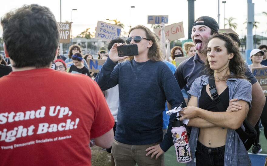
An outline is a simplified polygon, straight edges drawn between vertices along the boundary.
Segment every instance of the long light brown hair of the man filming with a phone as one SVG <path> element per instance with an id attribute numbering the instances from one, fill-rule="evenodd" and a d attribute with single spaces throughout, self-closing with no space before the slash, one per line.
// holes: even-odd
<path id="1" fill-rule="evenodd" d="M 144 25 L 137 25 L 134 28 L 131 28 L 129 30 L 129 34 L 134 29 L 143 29 L 146 32 L 146 38 L 149 39 L 150 41 L 152 41 L 152 43 L 153 43 L 152 46 L 148 50 L 148 58 L 152 61 L 163 61 L 163 55 L 162 55 L 161 50 L 160 50 L 160 44 L 157 41 L 157 38 L 154 35 L 154 33 L 152 31 L 150 31 L 150 29 L 145 27 Z M 128 35 L 128 37 L 129 37 L 129 35 Z M 133 60 L 133 59 L 134 59 L 134 56 L 130 56 L 127 58 L 127 60 Z"/>

